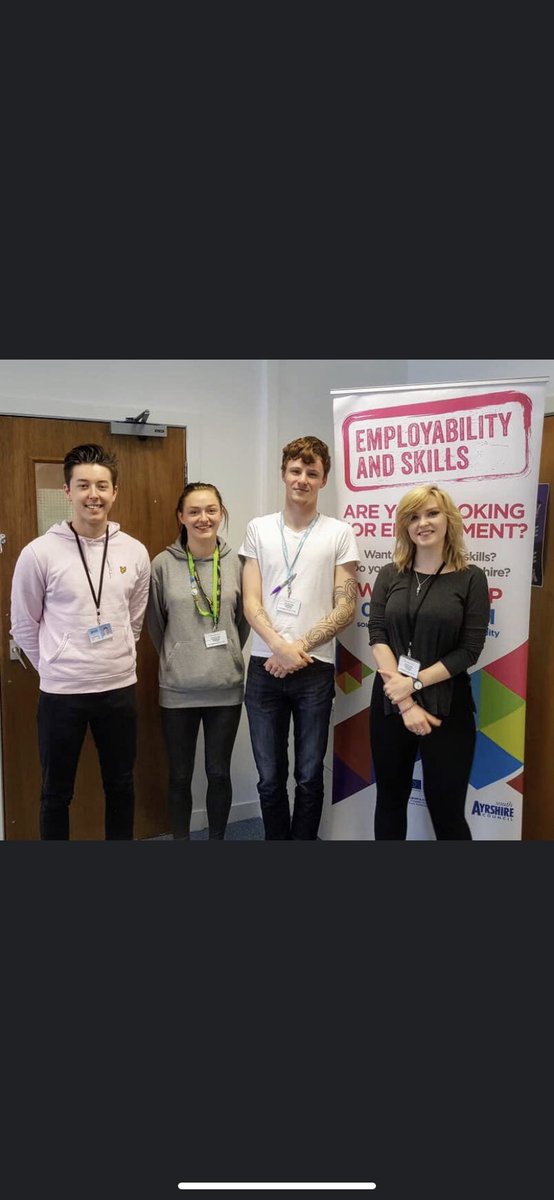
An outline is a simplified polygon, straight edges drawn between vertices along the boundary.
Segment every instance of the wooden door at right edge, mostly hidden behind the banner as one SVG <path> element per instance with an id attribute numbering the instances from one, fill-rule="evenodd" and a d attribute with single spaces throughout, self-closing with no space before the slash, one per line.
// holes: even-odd
<path id="1" fill-rule="evenodd" d="M 554 840 L 554 415 L 544 418 L 538 482 L 550 485 L 543 583 L 531 588 L 523 828 L 525 840 Z"/>

